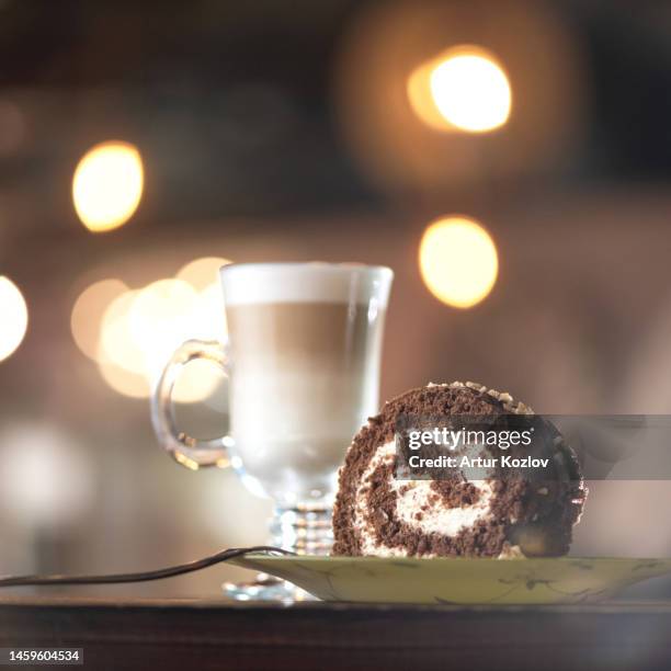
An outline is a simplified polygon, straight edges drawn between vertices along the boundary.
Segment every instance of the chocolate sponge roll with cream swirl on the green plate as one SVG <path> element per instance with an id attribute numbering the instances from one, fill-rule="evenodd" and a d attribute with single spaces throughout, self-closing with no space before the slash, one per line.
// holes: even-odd
<path id="1" fill-rule="evenodd" d="M 476 383 L 429 385 L 388 401 L 354 436 L 340 469 L 333 555 L 503 558 L 566 554 L 587 489 L 575 453 L 558 433 L 554 434 L 558 440 L 549 442 L 551 479 L 499 474 L 486 481 L 486 490 L 458 477 L 419 487 L 414 481 L 394 479 L 396 457 L 389 445 L 401 416 L 489 416 L 496 422 L 532 413 L 510 394 Z M 417 498 L 408 499 L 414 494 Z M 412 504 L 410 516 L 399 514 L 401 499 Z M 456 530 L 441 526 L 445 520 L 441 515 L 448 511 L 463 515 Z"/>

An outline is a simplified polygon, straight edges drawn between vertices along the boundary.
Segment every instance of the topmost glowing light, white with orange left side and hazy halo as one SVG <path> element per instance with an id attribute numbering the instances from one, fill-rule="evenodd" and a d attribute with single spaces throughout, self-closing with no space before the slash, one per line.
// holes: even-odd
<path id="1" fill-rule="evenodd" d="M 455 47 L 417 68 L 408 79 L 408 98 L 416 114 L 440 130 L 494 130 L 512 109 L 503 67 L 474 46 Z"/>

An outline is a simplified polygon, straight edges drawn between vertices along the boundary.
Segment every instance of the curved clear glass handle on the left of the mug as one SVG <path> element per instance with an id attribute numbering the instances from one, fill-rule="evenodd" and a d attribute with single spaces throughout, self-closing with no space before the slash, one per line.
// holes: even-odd
<path id="1" fill-rule="evenodd" d="M 219 365 L 228 375 L 228 357 L 217 341 L 187 340 L 181 344 L 159 377 L 151 397 L 151 421 L 159 443 L 182 466 L 192 470 L 205 466 L 226 468 L 229 465 L 227 446 L 232 439 L 198 440 L 186 435 L 177 428 L 172 389 L 182 368 L 195 359 L 205 359 Z"/>

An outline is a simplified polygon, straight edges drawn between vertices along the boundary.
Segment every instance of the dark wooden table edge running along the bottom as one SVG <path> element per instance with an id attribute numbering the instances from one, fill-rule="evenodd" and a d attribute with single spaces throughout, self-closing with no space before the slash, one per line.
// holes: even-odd
<path id="1" fill-rule="evenodd" d="M 0 599 L 0 647 L 54 646 L 83 648 L 83 668 L 96 671 L 641 671 L 671 669 L 671 603 L 493 609 Z"/>

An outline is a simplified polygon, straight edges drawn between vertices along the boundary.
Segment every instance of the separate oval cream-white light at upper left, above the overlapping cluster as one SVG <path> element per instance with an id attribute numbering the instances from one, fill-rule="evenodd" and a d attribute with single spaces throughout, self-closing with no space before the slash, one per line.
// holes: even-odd
<path id="1" fill-rule="evenodd" d="M 82 224 L 94 232 L 125 224 L 139 205 L 143 160 L 133 145 L 109 141 L 90 149 L 72 179 L 72 200 Z"/>

